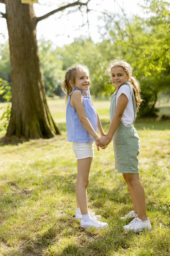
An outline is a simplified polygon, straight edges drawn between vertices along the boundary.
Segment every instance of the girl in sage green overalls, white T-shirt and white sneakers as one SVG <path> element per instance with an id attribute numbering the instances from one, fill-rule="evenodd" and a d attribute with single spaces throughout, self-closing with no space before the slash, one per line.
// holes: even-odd
<path id="1" fill-rule="evenodd" d="M 146 215 L 144 188 L 139 177 L 140 139 L 133 126 L 142 99 L 139 82 L 131 76 L 130 64 L 122 60 L 113 60 L 110 63 L 110 71 L 111 81 L 116 87 L 115 93 L 111 96 L 111 126 L 106 137 L 98 138 L 98 145 L 105 147 L 113 137 L 115 169 L 123 174 L 134 207 L 133 211 L 122 217 L 134 217 L 124 229 L 138 232 L 151 228 Z"/>

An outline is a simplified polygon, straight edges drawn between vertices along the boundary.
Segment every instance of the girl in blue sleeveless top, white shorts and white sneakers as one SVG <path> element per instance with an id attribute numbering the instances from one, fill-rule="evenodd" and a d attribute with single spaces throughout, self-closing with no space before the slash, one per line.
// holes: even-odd
<path id="1" fill-rule="evenodd" d="M 107 223 L 97 220 L 99 215 L 88 212 L 87 187 L 89 172 L 94 157 L 94 142 L 100 136 L 105 136 L 99 115 L 91 100 L 90 78 L 88 67 L 77 65 L 68 68 L 62 90 L 66 93 L 66 125 L 67 139 L 73 143 L 73 150 L 77 157 L 76 219 L 81 219 L 81 227 L 96 227 L 98 229 L 108 226 Z M 104 147 L 105 148 L 105 147 Z M 99 151 L 99 147 L 97 146 Z"/>

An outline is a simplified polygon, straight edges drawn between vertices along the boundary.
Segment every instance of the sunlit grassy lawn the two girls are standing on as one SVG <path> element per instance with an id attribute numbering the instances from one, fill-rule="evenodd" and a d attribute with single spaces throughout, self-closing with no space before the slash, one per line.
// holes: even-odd
<path id="1" fill-rule="evenodd" d="M 66 139 L 65 101 L 49 100 L 61 136 L 5 145 L 0 142 L 0 256 L 169 256 L 170 121 L 138 119 L 140 175 L 153 229 L 125 233 L 120 217 L 132 209 L 115 171 L 112 143 L 97 152 L 88 187 L 89 209 L 108 229 L 82 231 L 75 221 L 77 163 Z M 109 101 L 94 101 L 105 132 Z M 168 106 L 167 106 L 168 107 Z M 3 134 L 1 134 L 1 137 Z"/>

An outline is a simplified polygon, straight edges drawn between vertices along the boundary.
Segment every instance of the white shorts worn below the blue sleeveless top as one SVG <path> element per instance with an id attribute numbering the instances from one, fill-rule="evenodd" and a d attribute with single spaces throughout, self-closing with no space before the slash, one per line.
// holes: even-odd
<path id="1" fill-rule="evenodd" d="M 73 142 L 73 150 L 78 159 L 84 159 L 87 157 L 94 157 L 94 142 L 82 143 Z"/>

